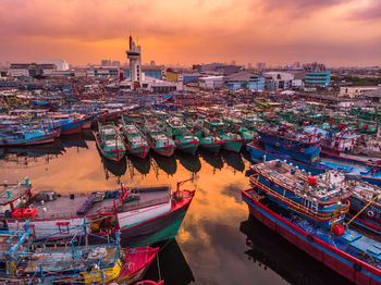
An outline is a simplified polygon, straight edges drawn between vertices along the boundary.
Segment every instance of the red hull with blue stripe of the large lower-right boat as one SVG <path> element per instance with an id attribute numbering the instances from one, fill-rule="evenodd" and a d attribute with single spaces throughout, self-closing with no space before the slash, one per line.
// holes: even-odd
<path id="1" fill-rule="evenodd" d="M 351 257 L 321 239 L 311 237 L 300 227 L 247 195 L 245 190 L 243 191 L 243 200 L 248 205 L 249 213 L 257 220 L 344 277 L 356 284 L 381 284 L 380 270 Z"/>

